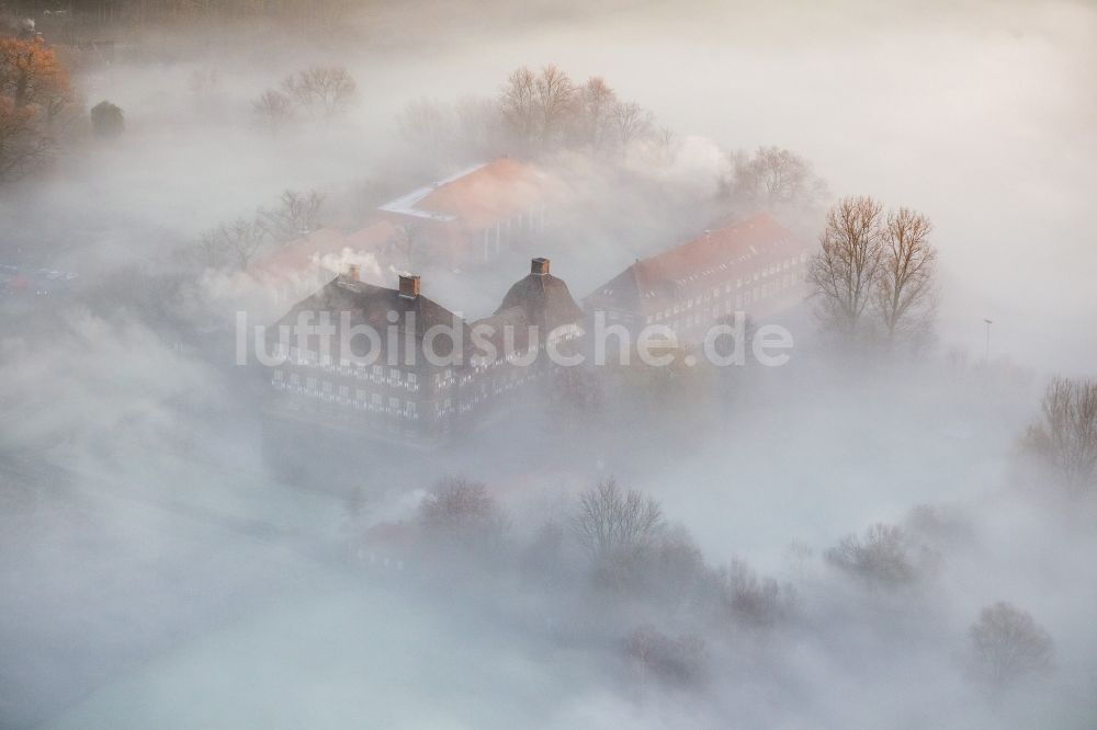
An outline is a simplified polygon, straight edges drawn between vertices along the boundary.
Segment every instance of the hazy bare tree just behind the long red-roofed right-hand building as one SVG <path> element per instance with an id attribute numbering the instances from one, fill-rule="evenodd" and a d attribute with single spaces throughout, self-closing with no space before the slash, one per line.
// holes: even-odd
<path id="1" fill-rule="evenodd" d="M 724 185 L 734 196 L 767 207 L 806 206 L 826 195 L 826 183 L 811 163 L 780 147 L 759 147 L 753 156 L 732 153 L 732 179 Z"/>

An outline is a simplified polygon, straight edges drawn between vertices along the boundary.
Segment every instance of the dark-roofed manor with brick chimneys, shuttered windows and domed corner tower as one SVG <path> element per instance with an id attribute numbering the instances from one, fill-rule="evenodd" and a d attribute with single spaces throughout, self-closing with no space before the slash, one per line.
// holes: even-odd
<path id="1" fill-rule="evenodd" d="M 303 334 L 302 323 L 331 329 Z M 474 322 L 425 296 L 419 276 L 387 288 L 352 266 L 270 330 L 268 350 L 282 362 L 270 372 L 267 415 L 434 445 L 489 422 L 509 393 L 551 370 L 546 349 L 574 349 L 581 334 L 583 311 L 547 259 Z"/>

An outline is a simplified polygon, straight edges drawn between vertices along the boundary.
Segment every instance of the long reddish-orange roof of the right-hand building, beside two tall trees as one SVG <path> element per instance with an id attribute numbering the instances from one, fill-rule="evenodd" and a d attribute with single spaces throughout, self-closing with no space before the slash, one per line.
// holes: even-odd
<path id="1" fill-rule="evenodd" d="M 766 213 L 706 231 L 648 259 L 637 260 L 587 297 L 593 307 L 653 311 L 714 282 L 753 272 L 805 250 Z"/>

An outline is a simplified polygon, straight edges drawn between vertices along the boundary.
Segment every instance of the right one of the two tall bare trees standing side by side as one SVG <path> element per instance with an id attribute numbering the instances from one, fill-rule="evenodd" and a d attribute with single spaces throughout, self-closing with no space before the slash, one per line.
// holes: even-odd
<path id="1" fill-rule="evenodd" d="M 937 249 L 929 218 L 909 208 L 887 214 L 872 305 L 889 343 L 928 333 L 937 312 Z"/>

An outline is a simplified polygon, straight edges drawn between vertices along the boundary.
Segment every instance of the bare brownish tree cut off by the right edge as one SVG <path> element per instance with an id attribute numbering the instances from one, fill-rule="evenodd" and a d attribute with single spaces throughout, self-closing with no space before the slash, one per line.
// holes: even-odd
<path id="1" fill-rule="evenodd" d="M 1025 446 L 1074 490 L 1097 489 L 1097 380 L 1055 378 Z"/>

